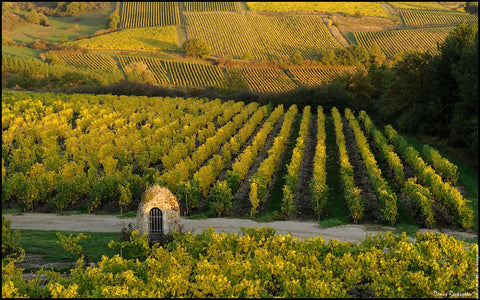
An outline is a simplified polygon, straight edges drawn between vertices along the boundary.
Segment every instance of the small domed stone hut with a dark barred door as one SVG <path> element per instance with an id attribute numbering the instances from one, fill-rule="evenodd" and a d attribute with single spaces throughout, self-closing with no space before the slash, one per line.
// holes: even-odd
<path id="1" fill-rule="evenodd" d="M 138 233 L 150 241 L 180 230 L 180 208 L 169 189 L 153 185 L 143 193 L 137 210 Z"/>

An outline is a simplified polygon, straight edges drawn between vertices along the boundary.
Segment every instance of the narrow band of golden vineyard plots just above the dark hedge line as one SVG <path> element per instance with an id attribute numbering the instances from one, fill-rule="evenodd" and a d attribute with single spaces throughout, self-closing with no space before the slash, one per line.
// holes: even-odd
<path id="1" fill-rule="evenodd" d="M 96 70 L 115 70 L 117 58 L 121 70 L 134 62 L 143 62 L 155 78 L 157 84 L 175 86 L 207 87 L 223 86 L 224 72 L 216 65 L 176 60 L 162 60 L 153 57 L 130 55 L 108 56 L 93 54 L 59 55 L 61 60 L 68 64 L 88 67 Z M 324 67 L 324 68 L 253 68 L 253 67 L 226 67 L 239 70 L 250 90 L 259 93 L 280 93 L 298 87 L 295 80 L 308 87 L 318 86 L 331 79 L 347 73 L 354 73 L 354 67 Z M 287 73 L 286 73 L 287 72 Z M 291 74 L 288 74 L 288 72 Z"/>

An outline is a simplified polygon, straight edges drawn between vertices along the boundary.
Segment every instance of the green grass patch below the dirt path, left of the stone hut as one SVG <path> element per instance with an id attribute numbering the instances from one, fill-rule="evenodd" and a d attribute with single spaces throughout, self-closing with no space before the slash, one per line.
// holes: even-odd
<path id="1" fill-rule="evenodd" d="M 19 230 L 20 244 L 25 250 L 25 253 L 44 255 L 43 259 L 46 262 L 56 261 L 75 261 L 78 257 L 71 254 L 57 243 L 57 231 L 44 230 Z M 65 236 L 73 234 L 76 236 L 80 232 L 58 231 Z M 98 262 L 102 255 L 112 257 L 118 254 L 115 250 L 108 248 L 108 243 L 111 240 L 120 241 L 120 233 L 114 232 L 86 232 L 85 235 L 91 238 L 81 240 L 78 244 L 82 247 L 82 251 L 87 254 L 90 262 Z"/>

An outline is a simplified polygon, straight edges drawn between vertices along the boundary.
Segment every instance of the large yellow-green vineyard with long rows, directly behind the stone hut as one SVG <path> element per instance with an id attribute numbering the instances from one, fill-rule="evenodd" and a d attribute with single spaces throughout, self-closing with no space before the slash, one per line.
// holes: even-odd
<path id="1" fill-rule="evenodd" d="M 29 211 L 128 209 L 154 182 L 177 194 L 184 214 L 211 206 L 216 215 L 229 215 L 241 206 L 232 213 L 255 216 L 266 202 L 280 201 L 288 216 L 297 184 L 311 185 L 317 217 L 333 201 L 322 177 L 325 122 L 332 119 L 325 120 L 321 107 L 313 175 L 299 178 L 314 117 L 309 106 L 298 114 L 295 105 L 268 111 L 254 102 L 202 99 L 7 92 L 2 99 L 3 203 Z M 383 133 L 376 129 L 364 111 L 360 122 L 350 109 L 344 119 L 336 108 L 331 113 L 339 173 L 326 176 L 340 174 L 353 222 L 393 225 L 399 207 L 406 206 L 417 224 L 474 225 L 474 211 L 455 186 L 456 166 L 438 151 L 425 147 L 422 159 L 391 126 Z M 301 121 L 293 154 L 282 161 L 296 118 Z M 269 199 L 282 164 L 283 199 Z M 185 202 L 195 190 L 197 197 Z M 216 202 L 218 190 L 230 200 Z"/>

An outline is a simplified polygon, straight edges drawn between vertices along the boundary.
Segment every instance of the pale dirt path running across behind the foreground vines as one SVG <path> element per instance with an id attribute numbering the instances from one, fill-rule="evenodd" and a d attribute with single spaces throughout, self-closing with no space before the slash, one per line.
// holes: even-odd
<path id="1" fill-rule="evenodd" d="M 112 215 L 70 215 L 60 216 L 45 213 L 2 214 L 12 220 L 12 229 L 36 229 L 36 230 L 62 230 L 80 232 L 120 232 L 124 225 L 135 223 L 135 218 L 120 219 Z M 314 221 L 275 221 L 256 222 L 248 219 L 211 218 L 190 220 L 181 218 L 181 226 L 184 232 L 202 233 L 204 229 L 213 227 L 216 233 L 232 232 L 240 233 L 243 228 L 262 228 L 265 226 L 276 230 L 277 234 L 288 234 L 297 238 L 322 237 L 325 240 L 338 239 L 348 242 L 359 242 L 367 234 L 375 235 L 380 232 L 393 230 L 392 227 L 376 226 L 374 229 L 368 225 L 341 225 L 329 228 L 318 227 Z M 419 229 L 425 231 L 425 229 Z M 431 230 L 439 232 L 438 230 Z M 445 234 L 457 238 L 477 238 L 476 234 L 466 232 L 442 231 Z"/>

